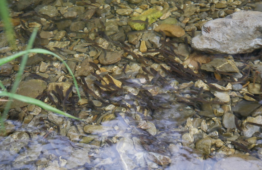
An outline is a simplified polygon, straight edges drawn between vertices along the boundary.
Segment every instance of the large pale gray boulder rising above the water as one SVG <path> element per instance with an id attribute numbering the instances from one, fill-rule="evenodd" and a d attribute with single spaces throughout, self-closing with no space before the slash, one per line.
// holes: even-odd
<path id="1" fill-rule="evenodd" d="M 262 45 L 262 12 L 235 12 L 206 22 L 201 34 L 191 39 L 200 51 L 222 54 L 250 53 Z"/>

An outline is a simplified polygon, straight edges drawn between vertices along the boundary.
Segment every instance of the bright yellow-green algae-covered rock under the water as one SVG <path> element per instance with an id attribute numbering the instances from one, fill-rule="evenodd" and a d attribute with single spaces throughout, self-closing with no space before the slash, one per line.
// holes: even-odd
<path id="1" fill-rule="evenodd" d="M 137 23 L 132 22 L 134 20 L 141 20 L 146 21 L 148 19 L 148 24 L 154 23 L 158 18 L 160 18 L 163 15 L 163 13 L 155 8 L 150 8 L 139 16 L 134 16 L 131 18 L 131 20 L 128 22 L 128 25 L 134 29 L 134 30 L 144 30 L 146 28 L 146 23 Z"/>

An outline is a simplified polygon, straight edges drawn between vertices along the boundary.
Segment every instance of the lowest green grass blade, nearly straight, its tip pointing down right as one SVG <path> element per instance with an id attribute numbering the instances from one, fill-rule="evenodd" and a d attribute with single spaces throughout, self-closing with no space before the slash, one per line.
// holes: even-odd
<path id="1" fill-rule="evenodd" d="M 49 110 L 49 111 L 52 111 L 52 112 L 56 112 L 60 115 L 64 115 L 66 117 L 69 117 L 69 118 L 73 118 L 73 119 L 77 119 L 77 120 L 81 120 L 80 118 L 77 118 L 77 117 L 74 117 L 68 113 L 65 113 L 61 110 L 58 110 L 40 100 L 37 100 L 37 99 L 34 99 L 34 98 L 31 98 L 31 97 L 26 97 L 26 96 L 22 96 L 22 95 L 19 95 L 19 94 L 13 94 L 13 93 L 9 93 L 9 92 L 3 92 L 3 91 L 0 91 L 0 96 L 9 96 L 13 99 L 16 99 L 16 100 L 20 100 L 20 101 L 23 101 L 23 102 L 26 102 L 26 103 L 29 103 L 29 104 L 34 104 L 34 105 L 37 105 L 45 110 Z"/>

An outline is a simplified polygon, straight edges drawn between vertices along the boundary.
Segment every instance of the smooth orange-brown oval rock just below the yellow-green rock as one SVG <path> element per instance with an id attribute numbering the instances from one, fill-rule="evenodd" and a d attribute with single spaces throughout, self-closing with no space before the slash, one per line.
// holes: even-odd
<path id="1" fill-rule="evenodd" d="M 185 30 L 178 25 L 161 24 L 156 27 L 155 31 L 163 31 L 168 37 L 182 37 L 185 35 Z"/>

